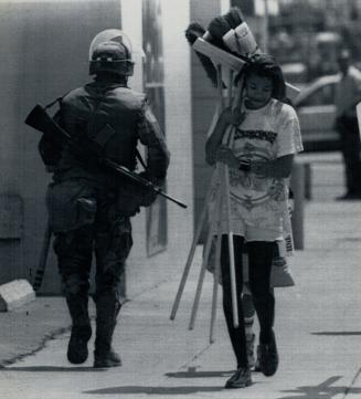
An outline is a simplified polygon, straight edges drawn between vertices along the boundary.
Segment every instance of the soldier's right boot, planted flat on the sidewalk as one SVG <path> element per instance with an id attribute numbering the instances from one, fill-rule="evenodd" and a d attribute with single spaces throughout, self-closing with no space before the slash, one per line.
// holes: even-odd
<path id="1" fill-rule="evenodd" d="M 120 304 L 114 297 L 108 296 L 96 300 L 94 368 L 121 366 L 120 356 L 112 347 L 119 311 Z"/>

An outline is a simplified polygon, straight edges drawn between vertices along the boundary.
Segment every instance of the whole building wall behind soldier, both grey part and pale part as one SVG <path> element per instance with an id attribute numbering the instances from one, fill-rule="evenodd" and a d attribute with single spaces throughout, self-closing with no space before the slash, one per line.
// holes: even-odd
<path id="1" fill-rule="evenodd" d="M 163 3 L 168 17 L 176 2 Z M 7 54 L 7 62 L 0 65 L 0 284 L 34 273 L 46 225 L 44 196 L 50 176 L 36 149 L 40 134 L 24 125 L 25 116 L 36 103 L 47 104 L 89 81 L 88 46 L 100 30 L 120 28 L 123 23 L 141 42 L 140 11 L 138 0 L 0 1 L 0 34 Z M 180 25 L 187 24 L 188 6 L 179 11 Z M 169 244 L 151 259 L 146 251 L 146 212 L 134 219 L 135 245 L 127 272 L 129 295 L 157 284 L 167 275 L 164 269 L 181 266 L 172 261 L 180 259 L 174 252 L 185 251 L 192 231 L 189 54 L 183 43 L 171 45 L 164 39 L 164 59 L 173 56 L 174 61 L 164 60 L 167 138 L 172 153 L 168 191 L 188 202 L 189 208 L 183 211 L 168 206 Z M 131 83 L 142 88 L 141 63 Z M 177 107 L 182 107 L 181 116 Z M 42 292 L 60 293 L 52 251 Z"/>

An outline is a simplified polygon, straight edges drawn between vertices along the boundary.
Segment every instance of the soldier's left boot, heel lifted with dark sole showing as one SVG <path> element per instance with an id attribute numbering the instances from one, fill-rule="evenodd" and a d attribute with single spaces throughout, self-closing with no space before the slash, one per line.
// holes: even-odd
<path id="1" fill-rule="evenodd" d="M 72 317 L 72 334 L 67 345 L 67 359 L 74 365 L 84 363 L 88 357 L 87 343 L 92 337 L 87 295 L 66 295 Z"/>

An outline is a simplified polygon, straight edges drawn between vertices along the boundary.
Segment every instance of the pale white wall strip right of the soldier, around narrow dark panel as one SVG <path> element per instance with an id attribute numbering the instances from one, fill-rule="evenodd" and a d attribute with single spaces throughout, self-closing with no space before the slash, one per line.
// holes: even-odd
<path id="1" fill-rule="evenodd" d="M 139 3 L 141 0 L 123 0 L 121 6 L 125 31 L 140 39 L 141 27 L 131 22 L 141 20 Z M 164 125 L 167 144 L 171 153 L 167 191 L 189 207 L 184 210 L 170 201 L 167 202 L 167 250 L 150 258 L 146 256 L 147 238 L 144 234 L 146 212 L 135 218 L 135 245 L 127 267 L 127 293 L 130 296 L 141 292 L 145 286 L 180 273 L 185 264 L 193 232 L 191 71 L 190 49 L 183 33 L 189 24 L 189 2 L 161 0 L 160 7 L 164 57 Z"/>

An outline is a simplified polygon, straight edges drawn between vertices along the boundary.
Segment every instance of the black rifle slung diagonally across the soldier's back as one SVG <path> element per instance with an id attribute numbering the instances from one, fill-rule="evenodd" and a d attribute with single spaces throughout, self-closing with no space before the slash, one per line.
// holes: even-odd
<path id="1" fill-rule="evenodd" d="M 109 158 L 105 158 L 100 155 L 100 147 L 93 140 L 82 136 L 79 138 L 72 137 L 65 132 L 41 105 L 35 105 L 25 119 L 25 124 L 32 128 L 44 133 L 45 135 L 52 135 L 70 146 L 70 149 L 85 164 L 97 164 L 100 167 L 105 167 L 118 176 L 125 176 L 136 181 L 137 183 L 152 190 L 153 192 L 167 198 L 168 200 L 177 203 L 181 208 L 187 208 L 187 204 L 179 201 L 176 198 L 170 197 L 162 191 L 159 186 L 156 186 L 151 181 L 138 176 L 137 174 L 128 170 L 126 167 L 115 162 Z"/>

